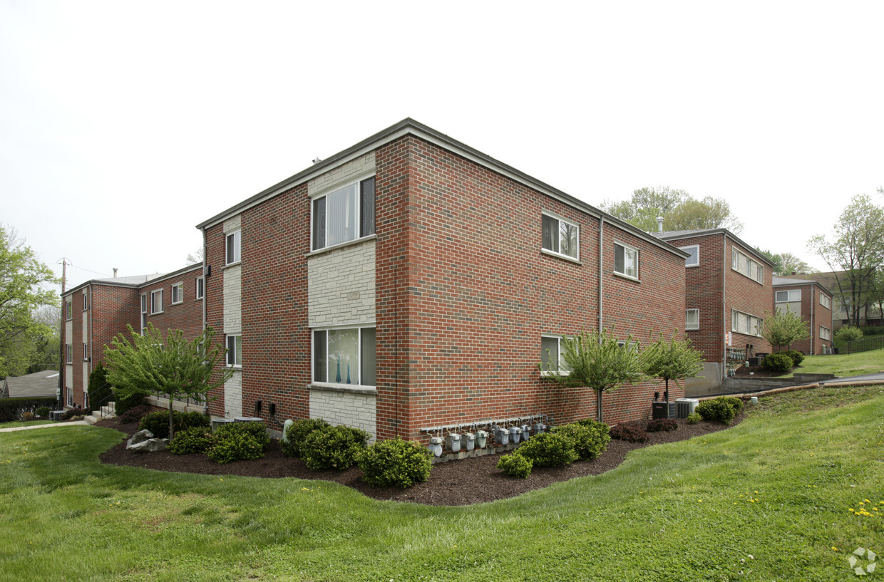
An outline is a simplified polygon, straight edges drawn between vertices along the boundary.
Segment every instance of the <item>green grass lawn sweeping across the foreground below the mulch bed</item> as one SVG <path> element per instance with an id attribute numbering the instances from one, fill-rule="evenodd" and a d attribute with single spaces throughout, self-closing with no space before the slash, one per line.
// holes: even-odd
<path id="1" fill-rule="evenodd" d="M 855 548 L 884 555 L 882 418 L 882 386 L 764 397 L 732 429 L 457 508 L 105 466 L 110 429 L 8 433 L 0 580 L 849 579 Z"/>

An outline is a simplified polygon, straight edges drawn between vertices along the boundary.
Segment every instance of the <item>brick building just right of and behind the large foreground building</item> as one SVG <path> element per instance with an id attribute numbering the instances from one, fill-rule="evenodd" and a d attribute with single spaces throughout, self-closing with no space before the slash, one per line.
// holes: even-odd
<path id="1" fill-rule="evenodd" d="M 703 378 L 685 381 L 688 396 L 714 391 L 753 353 L 771 346 L 759 335 L 773 313 L 773 263 L 727 229 L 655 232 L 690 253 L 685 261 L 685 328 L 703 351 Z"/>

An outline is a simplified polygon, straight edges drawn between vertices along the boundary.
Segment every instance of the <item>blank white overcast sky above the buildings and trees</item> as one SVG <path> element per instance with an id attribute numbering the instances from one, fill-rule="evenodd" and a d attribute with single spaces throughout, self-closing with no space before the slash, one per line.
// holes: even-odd
<path id="1" fill-rule="evenodd" d="M 884 184 L 884 3 L 0 0 L 0 222 L 68 286 L 404 117 L 598 206 L 668 185 L 806 251 Z"/>

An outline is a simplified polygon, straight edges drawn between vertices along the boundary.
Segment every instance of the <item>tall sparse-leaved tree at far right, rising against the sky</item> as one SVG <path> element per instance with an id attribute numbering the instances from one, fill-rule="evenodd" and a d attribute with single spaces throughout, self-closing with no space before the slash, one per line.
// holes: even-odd
<path id="1" fill-rule="evenodd" d="M 858 326 L 873 291 L 873 277 L 884 268 L 884 207 L 857 194 L 844 208 L 827 237 L 817 235 L 807 246 L 834 271 L 850 325 Z"/>

